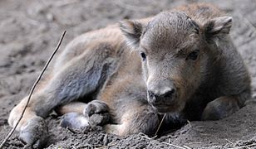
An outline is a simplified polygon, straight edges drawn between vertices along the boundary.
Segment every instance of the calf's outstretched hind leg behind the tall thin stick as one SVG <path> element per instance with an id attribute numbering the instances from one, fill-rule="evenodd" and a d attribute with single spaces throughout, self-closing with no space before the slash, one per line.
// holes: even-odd
<path id="1" fill-rule="evenodd" d="M 111 74 L 108 68 L 113 60 L 108 59 L 105 53 L 91 51 L 63 65 L 42 89 L 37 89 L 37 92 L 32 94 L 26 113 L 17 126 L 21 139 L 28 145 L 42 145 L 47 135 L 43 118 L 46 118 L 53 108 L 95 93 Z M 14 127 L 17 123 L 26 101 L 27 97 L 12 109 L 8 118 L 10 126 Z"/>

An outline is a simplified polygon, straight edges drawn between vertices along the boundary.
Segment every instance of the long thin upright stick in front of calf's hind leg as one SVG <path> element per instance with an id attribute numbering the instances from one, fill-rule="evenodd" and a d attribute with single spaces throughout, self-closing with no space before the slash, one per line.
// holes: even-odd
<path id="1" fill-rule="evenodd" d="M 49 60 L 47 60 L 47 64 L 44 66 L 44 68 L 42 69 L 41 74 L 38 76 L 36 82 L 33 84 L 32 89 L 30 90 L 30 93 L 29 93 L 29 95 L 28 95 L 27 103 L 26 103 L 26 105 L 25 105 L 25 107 L 24 107 L 24 109 L 23 109 L 23 111 L 22 111 L 21 117 L 18 119 L 17 123 L 16 123 L 15 126 L 12 128 L 11 132 L 8 133 L 7 137 L 5 137 L 5 139 L 4 139 L 3 142 L 1 143 L 0 149 L 3 147 L 3 145 L 5 144 L 5 142 L 7 142 L 7 140 L 8 140 L 10 137 L 12 137 L 12 133 L 15 131 L 15 129 L 16 129 L 18 123 L 20 123 L 20 121 L 22 120 L 23 115 L 24 115 L 24 113 L 25 113 L 25 111 L 26 111 L 26 109 L 27 109 L 27 105 L 28 105 L 28 103 L 29 103 L 29 101 L 30 101 L 30 99 L 31 99 L 32 93 L 33 93 L 34 89 L 36 88 L 38 82 L 39 82 L 40 79 L 42 78 L 42 74 L 45 72 L 45 70 L 47 70 L 47 67 L 48 67 L 48 65 L 50 64 L 50 62 L 51 62 L 53 56 L 56 54 L 57 50 L 60 48 L 65 34 L 66 34 L 66 31 L 64 31 L 64 32 L 62 33 L 62 37 L 61 37 L 60 41 L 58 42 L 58 45 L 57 45 L 56 49 L 52 52 L 52 55 L 50 56 Z"/>

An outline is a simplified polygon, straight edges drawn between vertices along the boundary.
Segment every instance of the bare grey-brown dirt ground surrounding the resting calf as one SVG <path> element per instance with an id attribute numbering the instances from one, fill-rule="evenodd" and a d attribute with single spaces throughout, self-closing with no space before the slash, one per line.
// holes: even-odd
<path id="1" fill-rule="evenodd" d="M 66 30 L 61 50 L 83 32 L 125 18 L 149 17 L 185 0 L 0 0 L 0 141 L 10 127 L 8 114 L 28 94 L 57 41 Z M 190 122 L 162 137 L 143 134 L 117 137 L 101 127 L 71 132 L 59 126 L 60 118 L 47 118 L 48 148 L 256 148 L 256 1 L 209 0 L 234 17 L 231 36 L 252 76 L 253 98 L 229 118 Z M 176 147 L 175 147 L 176 146 Z M 6 148 L 24 144 L 12 136 Z"/>

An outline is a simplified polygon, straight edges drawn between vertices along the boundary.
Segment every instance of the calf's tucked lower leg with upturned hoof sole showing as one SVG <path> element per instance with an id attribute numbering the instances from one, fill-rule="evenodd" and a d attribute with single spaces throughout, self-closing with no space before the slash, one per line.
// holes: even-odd
<path id="1" fill-rule="evenodd" d="M 73 129 L 103 125 L 110 119 L 106 103 L 100 100 L 92 100 L 90 103 L 67 103 L 57 108 L 57 113 L 63 114 L 61 126 Z"/>

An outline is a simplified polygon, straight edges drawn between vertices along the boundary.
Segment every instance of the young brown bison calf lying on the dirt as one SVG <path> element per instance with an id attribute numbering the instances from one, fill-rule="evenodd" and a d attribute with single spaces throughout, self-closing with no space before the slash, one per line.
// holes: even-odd
<path id="1" fill-rule="evenodd" d="M 105 125 L 121 136 L 154 134 L 164 113 L 165 127 L 229 116 L 250 97 L 231 25 L 218 8 L 193 4 L 78 36 L 32 95 L 20 137 L 42 144 L 53 109 L 66 114 L 63 127 Z M 12 109 L 12 127 L 26 101 Z"/>

